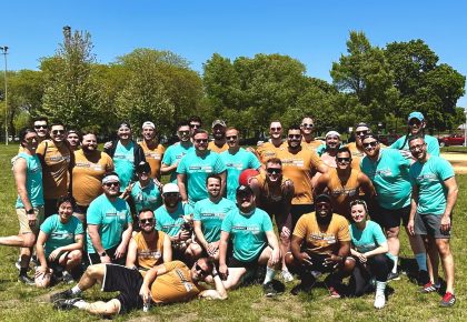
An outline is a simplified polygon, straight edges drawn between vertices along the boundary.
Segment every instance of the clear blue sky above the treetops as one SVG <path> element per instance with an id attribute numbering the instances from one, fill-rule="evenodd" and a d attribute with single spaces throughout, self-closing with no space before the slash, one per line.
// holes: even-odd
<path id="1" fill-rule="evenodd" d="M 467 74 L 466 1 L 16 0 L 0 8 L 0 46 L 10 48 L 12 70 L 37 69 L 70 26 L 91 33 L 101 63 L 155 48 L 185 57 L 201 72 L 213 52 L 231 59 L 281 53 L 331 81 L 331 63 L 346 52 L 349 31 L 358 30 L 379 47 L 423 39 L 440 62 Z M 467 107 L 467 98 L 458 105 Z"/>

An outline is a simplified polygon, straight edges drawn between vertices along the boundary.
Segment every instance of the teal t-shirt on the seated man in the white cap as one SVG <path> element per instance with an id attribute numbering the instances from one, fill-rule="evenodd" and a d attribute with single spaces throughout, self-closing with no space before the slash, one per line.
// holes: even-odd
<path id="1" fill-rule="evenodd" d="M 176 211 L 168 212 L 166 205 L 159 207 L 156 212 L 156 229 L 175 237 L 185 223 L 183 215 L 192 213 L 192 208 L 186 203 L 178 203 Z"/>

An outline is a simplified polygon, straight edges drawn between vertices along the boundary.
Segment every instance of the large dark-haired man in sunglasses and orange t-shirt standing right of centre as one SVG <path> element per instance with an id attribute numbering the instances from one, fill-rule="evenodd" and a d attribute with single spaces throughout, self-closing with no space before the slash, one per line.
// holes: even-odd
<path id="1" fill-rule="evenodd" d="M 301 131 L 298 127 L 288 130 L 287 147 L 281 148 L 277 158 L 282 161 L 284 175 L 294 182 L 295 193 L 291 201 L 292 229 L 298 219 L 315 210 L 312 203 L 312 173 L 318 171 L 326 173 L 328 167 L 319 159 L 316 152 L 304 148 L 301 144 Z"/>

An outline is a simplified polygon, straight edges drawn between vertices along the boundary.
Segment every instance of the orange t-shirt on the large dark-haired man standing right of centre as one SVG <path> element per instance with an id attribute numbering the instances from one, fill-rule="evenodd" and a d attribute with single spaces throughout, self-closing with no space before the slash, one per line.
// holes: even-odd
<path id="1" fill-rule="evenodd" d="M 312 203 L 311 171 L 322 163 L 318 154 L 307 149 L 291 153 L 288 148 L 281 148 L 277 158 L 282 161 L 284 175 L 294 182 L 295 194 L 291 203 Z"/>

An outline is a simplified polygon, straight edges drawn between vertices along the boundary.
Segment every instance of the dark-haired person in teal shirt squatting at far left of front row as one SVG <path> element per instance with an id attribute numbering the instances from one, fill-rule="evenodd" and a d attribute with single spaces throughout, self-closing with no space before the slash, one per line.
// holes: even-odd
<path id="1" fill-rule="evenodd" d="M 40 261 L 36 270 L 36 285 L 47 288 L 50 279 L 44 279 L 44 283 L 38 283 L 38 280 L 51 272 L 66 283 L 73 281 L 70 273 L 81 263 L 85 234 L 81 221 L 73 217 L 74 204 L 72 197 L 60 197 L 57 201 L 58 214 L 46 219 L 40 227 L 36 244 Z"/>

